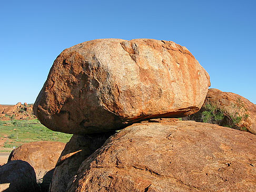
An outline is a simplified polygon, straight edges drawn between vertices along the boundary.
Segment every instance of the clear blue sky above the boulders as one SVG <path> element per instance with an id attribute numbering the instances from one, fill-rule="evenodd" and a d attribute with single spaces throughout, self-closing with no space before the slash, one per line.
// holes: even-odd
<path id="1" fill-rule="evenodd" d="M 256 103 L 256 1 L 1 1 L 0 104 L 34 103 L 54 59 L 97 38 L 187 47 L 211 88 Z"/>

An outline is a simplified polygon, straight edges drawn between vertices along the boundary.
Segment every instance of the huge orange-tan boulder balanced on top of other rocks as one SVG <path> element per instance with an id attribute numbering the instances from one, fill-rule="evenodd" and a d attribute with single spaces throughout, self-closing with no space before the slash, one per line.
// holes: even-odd
<path id="1" fill-rule="evenodd" d="M 209 86 L 208 73 L 174 42 L 96 39 L 56 58 L 34 114 L 59 132 L 107 132 L 143 119 L 193 114 Z"/>

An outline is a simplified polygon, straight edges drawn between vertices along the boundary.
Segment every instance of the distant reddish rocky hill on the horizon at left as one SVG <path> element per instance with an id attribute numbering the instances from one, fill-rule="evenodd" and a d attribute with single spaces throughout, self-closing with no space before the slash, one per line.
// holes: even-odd
<path id="1" fill-rule="evenodd" d="M 0 105 L 0 120 L 36 119 L 33 114 L 33 104 Z"/>

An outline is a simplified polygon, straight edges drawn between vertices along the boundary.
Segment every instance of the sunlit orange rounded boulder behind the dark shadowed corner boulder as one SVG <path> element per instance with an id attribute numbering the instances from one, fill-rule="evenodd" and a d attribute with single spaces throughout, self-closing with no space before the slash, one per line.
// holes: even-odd
<path id="1" fill-rule="evenodd" d="M 55 165 L 64 147 L 65 143 L 61 142 L 27 143 L 14 149 L 9 155 L 8 162 L 26 161 L 35 169 L 37 180 L 50 185 Z"/>

